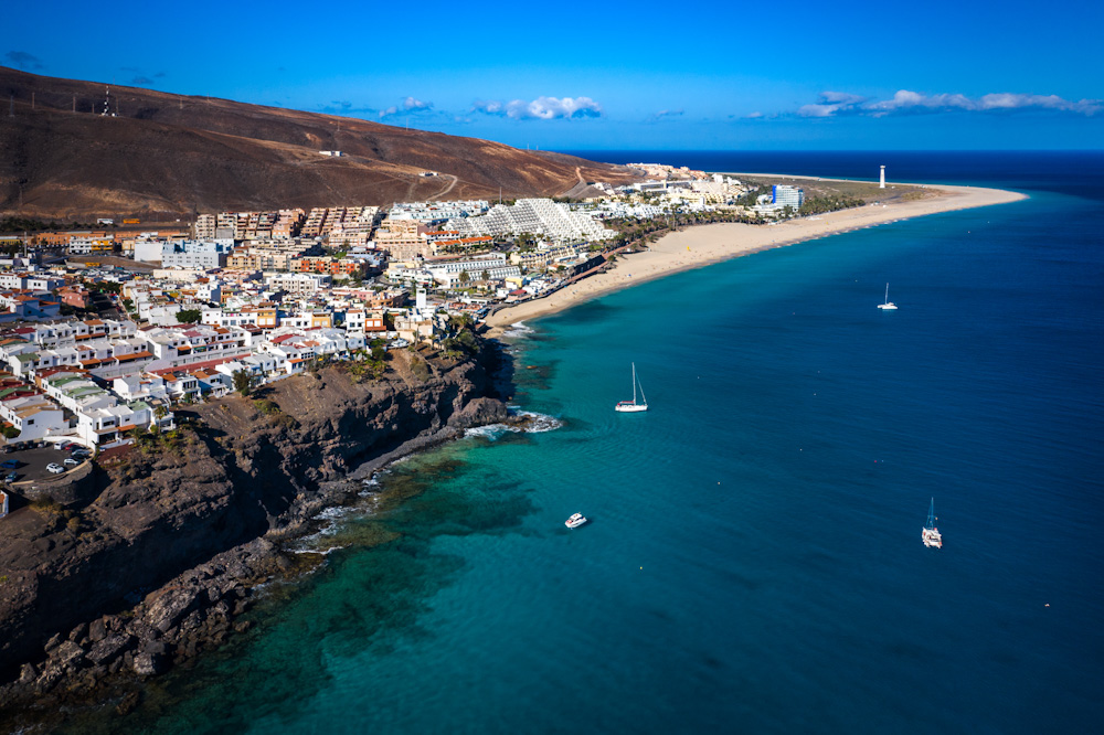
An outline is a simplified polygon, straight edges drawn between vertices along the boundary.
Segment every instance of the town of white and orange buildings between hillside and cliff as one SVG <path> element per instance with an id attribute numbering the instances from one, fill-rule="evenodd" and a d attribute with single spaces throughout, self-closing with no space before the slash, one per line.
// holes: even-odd
<path id="1" fill-rule="evenodd" d="M 332 151 L 331 151 L 332 152 Z M 100 219 L 96 230 L 9 236 L 0 260 L 3 450 L 76 451 L 49 475 L 9 459 L 21 489 L 92 452 L 176 428 L 174 408 L 331 361 L 379 365 L 388 350 L 470 349 L 459 324 L 548 297 L 646 247 L 648 223 L 796 214 L 803 191 L 635 164 L 633 185 L 551 199 L 401 202 L 219 212 L 179 226 Z M 33 473 L 32 473 L 33 475 Z M 63 478 L 56 478 L 61 480 Z"/>

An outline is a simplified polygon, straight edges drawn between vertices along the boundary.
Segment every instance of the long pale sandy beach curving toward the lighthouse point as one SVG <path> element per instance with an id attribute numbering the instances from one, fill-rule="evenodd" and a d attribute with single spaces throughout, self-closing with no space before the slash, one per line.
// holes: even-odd
<path id="1" fill-rule="evenodd" d="M 487 324 L 491 327 L 491 335 L 495 335 L 509 324 L 560 311 L 586 299 L 679 270 L 699 268 L 772 247 L 793 245 L 885 222 L 1026 199 L 1023 194 L 1000 189 L 943 184 L 926 185 L 926 189 L 937 192 L 936 195 L 884 205 L 868 204 L 815 217 L 789 220 L 776 225 L 716 223 L 687 227 L 681 232 L 664 235 L 658 242 L 652 243 L 648 251 L 618 257 L 613 267 L 605 273 L 584 278 L 552 296 L 499 309 L 488 317 Z"/>

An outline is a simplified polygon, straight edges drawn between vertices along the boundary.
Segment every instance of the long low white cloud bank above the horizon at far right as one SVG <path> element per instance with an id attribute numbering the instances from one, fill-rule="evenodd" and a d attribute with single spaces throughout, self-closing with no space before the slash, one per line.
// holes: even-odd
<path id="1" fill-rule="evenodd" d="M 994 113 L 1020 110 L 1052 110 L 1073 113 L 1078 115 L 1095 115 L 1104 109 L 1100 99 L 1081 99 L 1072 102 L 1058 95 L 1029 95 L 1016 93 L 996 93 L 972 98 L 962 94 L 924 95 L 919 92 L 901 89 L 890 99 L 868 100 L 866 97 L 840 92 L 826 92 L 820 99 L 811 105 L 803 105 L 797 109 L 802 117 L 834 117 L 838 115 L 868 115 L 884 117 L 887 115 L 916 113 Z"/>

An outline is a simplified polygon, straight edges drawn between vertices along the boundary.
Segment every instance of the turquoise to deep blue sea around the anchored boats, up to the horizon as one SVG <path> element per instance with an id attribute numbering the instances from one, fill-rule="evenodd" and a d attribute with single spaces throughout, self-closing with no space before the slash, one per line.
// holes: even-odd
<path id="1" fill-rule="evenodd" d="M 109 728 L 1104 732 L 1104 155 L 585 155 L 1030 199 L 528 324 L 513 403 L 562 426 L 395 466 Z"/>

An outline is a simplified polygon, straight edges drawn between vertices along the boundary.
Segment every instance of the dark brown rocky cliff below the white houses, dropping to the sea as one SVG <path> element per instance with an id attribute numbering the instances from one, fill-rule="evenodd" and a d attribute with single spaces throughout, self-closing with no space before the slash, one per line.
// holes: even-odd
<path id="1" fill-rule="evenodd" d="M 182 412 L 0 529 L 0 729 L 61 709 L 126 714 L 144 682 L 250 627 L 273 579 L 317 560 L 282 544 L 412 451 L 509 420 L 509 358 L 396 351 L 382 379 L 339 363 Z"/>

